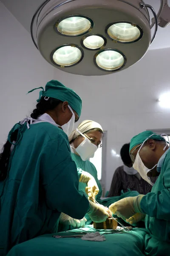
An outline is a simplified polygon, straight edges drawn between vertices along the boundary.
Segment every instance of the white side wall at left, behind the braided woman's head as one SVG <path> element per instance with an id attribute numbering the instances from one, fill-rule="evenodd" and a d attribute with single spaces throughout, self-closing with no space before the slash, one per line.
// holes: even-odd
<path id="1" fill-rule="evenodd" d="M 0 2 L 0 144 L 14 123 L 33 109 L 39 91 L 53 79 L 54 67 L 34 47 L 31 35 Z"/>

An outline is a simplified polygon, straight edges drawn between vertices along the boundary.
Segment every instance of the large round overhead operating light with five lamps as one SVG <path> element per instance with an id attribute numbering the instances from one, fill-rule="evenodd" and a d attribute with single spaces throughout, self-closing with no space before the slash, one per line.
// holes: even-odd
<path id="1" fill-rule="evenodd" d="M 156 15 L 143 0 L 45 0 L 31 21 L 31 37 L 45 60 L 58 69 L 107 75 L 139 61 L 158 25 L 170 23 L 167 0 L 160 3 Z"/>

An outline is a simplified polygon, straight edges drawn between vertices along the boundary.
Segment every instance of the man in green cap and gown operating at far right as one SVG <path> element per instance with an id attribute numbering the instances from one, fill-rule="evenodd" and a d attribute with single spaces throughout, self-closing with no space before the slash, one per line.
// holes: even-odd
<path id="1" fill-rule="evenodd" d="M 111 204 L 110 210 L 132 225 L 145 221 L 148 232 L 145 236 L 145 255 L 169 256 L 170 147 L 164 137 L 144 131 L 132 138 L 130 157 L 134 169 L 151 185 L 150 177 L 159 177 L 150 193 L 124 198 Z"/>

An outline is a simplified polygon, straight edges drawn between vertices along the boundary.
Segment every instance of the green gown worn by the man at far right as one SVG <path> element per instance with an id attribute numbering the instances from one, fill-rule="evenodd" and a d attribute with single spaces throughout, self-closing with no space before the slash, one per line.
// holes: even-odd
<path id="1" fill-rule="evenodd" d="M 160 175 L 140 206 L 145 212 L 145 255 L 170 256 L 170 150 L 161 167 Z"/>

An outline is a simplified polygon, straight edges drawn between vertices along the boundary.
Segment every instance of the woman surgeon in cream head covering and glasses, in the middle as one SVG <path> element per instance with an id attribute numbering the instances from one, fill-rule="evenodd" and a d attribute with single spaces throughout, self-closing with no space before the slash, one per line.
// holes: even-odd
<path id="1" fill-rule="evenodd" d="M 102 187 L 97 178 L 97 170 L 94 164 L 89 161 L 89 158 L 94 157 L 96 150 L 102 147 L 102 137 L 102 126 L 91 120 L 81 122 L 68 137 L 72 152 L 71 157 L 77 165 L 79 190 L 86 192 L 90 200 L 95 198 L 99 203 L 101 202 Z M 88 187 L 87 183 L 89 183 Z M 91 191 L 93 191 L 93 195 Z M 81 220 L 73 219 L 63 213 L 59 218 L 59 228 L 62 231 L 84 227 L 85 224 L 91 224 L 91 218 L 88 214 Z"/>

